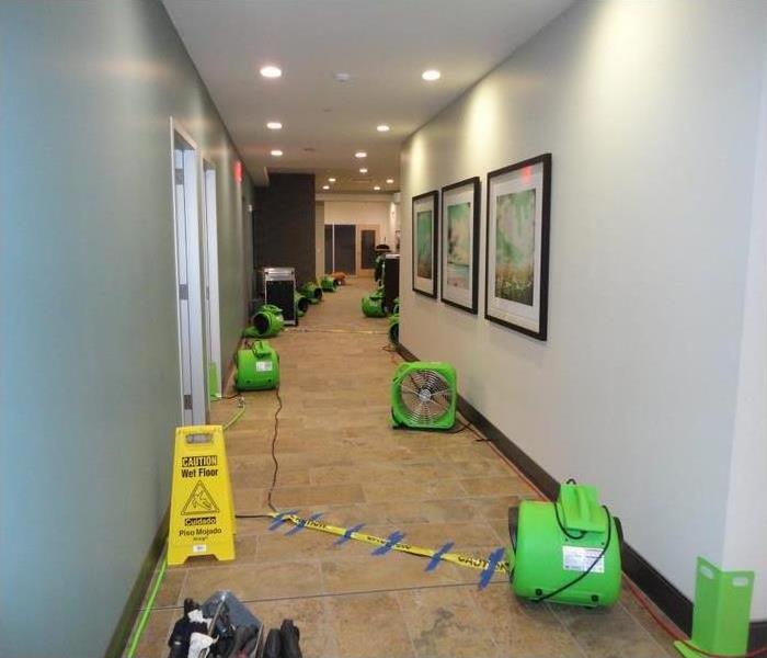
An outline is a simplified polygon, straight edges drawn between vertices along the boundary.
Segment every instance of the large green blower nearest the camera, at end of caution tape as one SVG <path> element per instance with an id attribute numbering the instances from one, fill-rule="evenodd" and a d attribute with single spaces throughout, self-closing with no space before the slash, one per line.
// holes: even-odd
<path id="1" fill-rule="evenodd" d="M 533 601 L 596 608 L 620 593 L 620 521 L 595 487 L 568 480 L 557 502 L 524 500 L 508 510 L 512 589 Z"/>

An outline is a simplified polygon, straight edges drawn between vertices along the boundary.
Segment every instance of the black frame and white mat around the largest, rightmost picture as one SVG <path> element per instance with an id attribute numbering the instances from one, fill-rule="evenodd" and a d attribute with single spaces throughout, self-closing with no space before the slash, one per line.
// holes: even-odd
<path id="1" fill-rule="evenodd" d="M 535 223 L 540 223 L 540 230 L 538 227 L 535 228 L 536 236 L 540 236 L 540 251 L 537 254 L 534 245 L 534 266 L 533 276 L 530 277 L 531 291 L 531 308 L 533 311 L 536 309 L 537 300 L 537 317 L 535 321 L 528 320 L 528 318 L 522 318 L 522 316 L 515 316 L 514 313 L 499 313 L 500 305 L 507 305 L 512 307 L 514 305 L 523 306 L 517 302 L 508 298 L 502 298 L 494 296 L 495 285 L 496 285 L 496 262 L 495 253 L 491 253 L 491 245 L 495 245 L 496 231 L 495 220 L 496 217 L 492 217 L 496 205 L 494 203 L 495 196 L 494 191 L 499 183 L 503 184 L 503 181 L 513 181 L 515 178 L 522 180 L 524 185 L 525 177 L 529 177 L 530 180 L 540 180 L 540 185 L 528 186 L 525 192 L 530 189 L 536 190 L 535 203 L 537 204 L 538 189 L 540 189 L 540 218 L 537 217 L 537 208 L 534 211 Z M 513 183 L 507 183 L 513 184 Z M 513 192 L 516 193 L 516 192 Z M 540 341 L 546 341 L 548 338 L 548 319 L 549 319 L 549 242 L 550 242 L 550 224 L 551 224 L 551 154 L 542 154 L 536 156 L 535 158 L 528 158 L 520 162 L 516 162 L 508 167 L 502 169 L 496 169 L 488 173 L 488 190 L 485 200 L 485 259 L 484 259 L 484 317 L 491 322 L 502 325 L 519 333 L 524 333 L 531 338 Z M 538 240 L 536 240 L 538 241 Z M 497 251 L 497 250 L 495 250 Z M 493 279 L 491 279 L 491 269 Z M 536 286 L 535 282 L 538 281 L 537 287 L 537 299 L 536 299 Z M 491 297 L 492 293 L 492 297 Z M 526 305 L 526 304 L 525 304 Z"/>

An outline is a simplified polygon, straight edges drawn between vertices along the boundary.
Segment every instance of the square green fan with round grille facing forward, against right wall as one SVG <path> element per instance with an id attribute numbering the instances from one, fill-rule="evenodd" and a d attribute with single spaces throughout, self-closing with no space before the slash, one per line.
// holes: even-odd
<path id="1" fill-rule="evenodd" d="M 393 427 L 449 430 L 456 422 L 456 368 L 440 361 L 402 363 L 391 382 Z"/>

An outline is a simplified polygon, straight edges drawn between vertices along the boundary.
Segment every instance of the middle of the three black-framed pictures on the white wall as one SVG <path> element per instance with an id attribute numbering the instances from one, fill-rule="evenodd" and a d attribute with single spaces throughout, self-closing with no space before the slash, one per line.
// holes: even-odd
<path id="1" fill-rule="evenodd" d="M 477 315 L 479 290 L 480 179 L 442 189 L 439 297 Z"/>

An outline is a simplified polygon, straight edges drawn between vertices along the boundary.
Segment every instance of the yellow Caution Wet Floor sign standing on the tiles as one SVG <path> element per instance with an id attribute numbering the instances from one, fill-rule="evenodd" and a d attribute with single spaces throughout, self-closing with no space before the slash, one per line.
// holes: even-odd
<path id="1" fill-rule="evenodd" d="M 175 431 L 168 564 L 192 555 L 234 559 L 234 512 L 221 426 Z"/>

